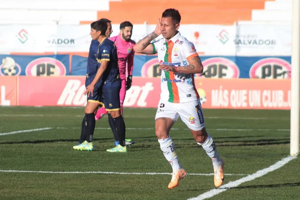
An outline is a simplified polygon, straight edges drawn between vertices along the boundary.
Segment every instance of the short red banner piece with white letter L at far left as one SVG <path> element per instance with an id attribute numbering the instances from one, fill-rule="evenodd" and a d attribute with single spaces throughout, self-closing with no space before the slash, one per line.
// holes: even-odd
<path id="1" fill-rule="evenodd" d="M 17 105 L 17 76 L 0 76 L 0 106 Z"/>

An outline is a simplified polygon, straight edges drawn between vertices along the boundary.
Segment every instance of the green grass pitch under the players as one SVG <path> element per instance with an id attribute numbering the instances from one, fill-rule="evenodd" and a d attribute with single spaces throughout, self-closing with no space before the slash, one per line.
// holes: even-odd
<path id="1" fill-rule="evenodd" d="M 126 138 L 136 144 L 116 154 L 106 152 L 113 147 L 107 116 L 96 122 L 96 149 L 86 152 L 72 149 L 80 136 L 83 108 L 0 107 L 0 199 L 169 200 L 215 189 L 211 159 L 181 120 L 170 135 L 188 175 L 178 187 L 167 189 L 171 175 L 157 173 L 171 173 L 172 168 L 155 136 L 155 112 L 124 109 Z M 289 111 L 204 109 L 203 114 L 225 161 L 223 185 L 289 156 Z M 33 130 L 38 128 L 49 129 Z M 22 130 L 29 131 L 18 132 Z M 299 161 L 297 157 L 252 181 L 226 187 L 210 199 L 300 199 Z"/>

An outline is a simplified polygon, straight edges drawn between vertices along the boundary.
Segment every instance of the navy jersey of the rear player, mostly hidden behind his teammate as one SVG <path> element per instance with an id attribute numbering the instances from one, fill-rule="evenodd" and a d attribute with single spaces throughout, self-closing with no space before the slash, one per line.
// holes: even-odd
<path id="1" fill-rule="evenodd" d="M 99 47 L 99 42 L 97 40 L 92 40 L 90 45 L 90 50 L 88 52 L 88 65 L 86 69 L 86 79 L 85 85 L 91 84 L 93 81 L 100 64 L 97 62 L 97 51 Z"/>

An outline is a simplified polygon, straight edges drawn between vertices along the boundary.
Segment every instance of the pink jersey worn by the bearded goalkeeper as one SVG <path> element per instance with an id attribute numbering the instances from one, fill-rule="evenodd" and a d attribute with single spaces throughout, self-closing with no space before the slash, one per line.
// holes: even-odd
<path id="1" fill-rule="evenodd" d="M 124 80 L 126 78 L 126 63 L 128 75 L 132 75 L 134 57 L 133 47 L 135 42 L 133 40 L 129 40 L 129 42 L 122 40 L 120 34 L 110 37 L 109 39 L 112 40 L 117 47 L 120 78 Z"/>

